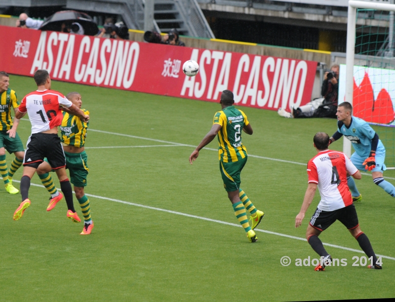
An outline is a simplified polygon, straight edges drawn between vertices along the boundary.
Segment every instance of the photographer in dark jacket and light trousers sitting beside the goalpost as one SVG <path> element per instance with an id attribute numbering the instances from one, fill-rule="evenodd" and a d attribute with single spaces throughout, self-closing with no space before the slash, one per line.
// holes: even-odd
<path id="1" fill-rule="evenodd" d="M 324 75 L 321 87 L 322 98 L 315 99 L 310 103 L 293 108 L 292 113 L 279 108 L 277 113 L 288 118 L 303 117 L 332 117 L 336 118 L 337 98 L 339 92 L 339 65 L 335 64 L 330 68 L 330 72 Z"/>

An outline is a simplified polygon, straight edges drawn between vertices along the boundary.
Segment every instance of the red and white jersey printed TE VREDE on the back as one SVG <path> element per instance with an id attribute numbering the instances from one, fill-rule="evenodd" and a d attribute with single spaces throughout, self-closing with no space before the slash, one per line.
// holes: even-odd
<path id="1" fill-rule="evenodd" d="M 32 124 L 32 134 L 40 133 L 60 126 L 63 113 L 59 106 L 69 108 L 73 105 L 60 92 L 54 90 L 33 91 L 26 95 L 18 110 L 27 112 Z"/>

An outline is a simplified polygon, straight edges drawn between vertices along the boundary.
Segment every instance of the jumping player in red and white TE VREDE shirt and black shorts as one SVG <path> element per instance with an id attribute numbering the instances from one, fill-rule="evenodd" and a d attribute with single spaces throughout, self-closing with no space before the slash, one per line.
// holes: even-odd
<path id="1" fill-rule="evenodd" d="M 50 90 L 51 78 L 46 70 L 36 71 L 34 80 L 37 84 L 37 90 L 23 98 L 18 111 L 15 113 L 16 118 L 22 118 L 28 113 L 32 124 L 32 134 L 28 139 L 23 160 L 23 176 L 20 185 L 22 203 L 16 209 L 13 219 L 20 219 L 24 211 L 30 206 L 30 180 L 40 163 L 43 162 L 44 157 L 46 157 L 58 176 L 60 188 L 68 207 L 67 217 L 75 222 L 80 222 L 73 205 L 73 191 L 67 178 L 66 159 L 57 127 L 62 123 L 62 109 L 77 115 L 83 121 L 88 121 L 89 115 L 86 115 L 60 92 Z"/>

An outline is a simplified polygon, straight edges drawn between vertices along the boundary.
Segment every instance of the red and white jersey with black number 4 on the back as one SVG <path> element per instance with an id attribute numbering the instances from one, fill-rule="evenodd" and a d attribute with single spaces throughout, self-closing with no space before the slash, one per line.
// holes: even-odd
<path id="1" fill-rule="evenodd" d="M 353 203 L 347 185 L 347 172 L 354 175 L 358 169 L 346 154 L 325 150 L 309 160 L 307 174 L 309 183 L 318 184 L 321 201 L 318 209 L 334 211 Z"/>

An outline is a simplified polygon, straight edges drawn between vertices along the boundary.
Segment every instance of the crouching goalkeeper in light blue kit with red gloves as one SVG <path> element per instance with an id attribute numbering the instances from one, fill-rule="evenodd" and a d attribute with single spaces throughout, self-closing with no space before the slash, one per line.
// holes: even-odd
<path id="1" fill-rule="evenodd" d="M 377 133 L 367 122 L 352 116 L 353 106 L 344 102 L 337 107 L 338 129 L 330 138 L 331 142 L 337 141 L 343 135 L 352 143 L 355 152 L 351 161 L 359 170 L 372 171 L 373 182 L 384 189 L 388 194 L 395 197 L 395 187 L 383 178 L 383 172 L 387 169 L 384 164 L 386 149 Z M 347 183 L 353 195 L 353 201 L 360 201 L 362 195 L 356 189 L 354 179 L 347 177 Z"/>

